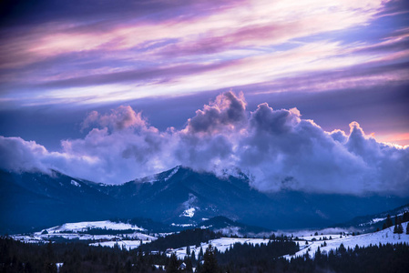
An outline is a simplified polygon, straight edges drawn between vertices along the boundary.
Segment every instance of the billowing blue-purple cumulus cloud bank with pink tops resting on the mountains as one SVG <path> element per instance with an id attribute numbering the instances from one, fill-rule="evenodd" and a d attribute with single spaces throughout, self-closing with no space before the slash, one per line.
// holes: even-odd
<path id="1" fill-rule="evenodd" d="M 183 165 L 223 176 L 239 168 L 261 191 L 282 189 L 362 195 L 409 195 L 409 148 L 377 142 L 357 123 L 325 132 L 297 108 L 262 103 L 247 109 L 242 94 L 226 92 L 196 111 L 184 128 L 159 131 L 140 112 L 119 106 L 93 111 L 59 152 L 34 141 L 0 136 L 0 167 L 50 168 L 118 184 Z"/>

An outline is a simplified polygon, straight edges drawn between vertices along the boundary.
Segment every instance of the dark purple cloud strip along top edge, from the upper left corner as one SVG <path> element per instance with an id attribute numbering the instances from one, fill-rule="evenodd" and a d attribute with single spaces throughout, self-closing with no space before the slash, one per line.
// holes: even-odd
<path id="1" fill-rule="evenodd" d="M 237 5 L 231 1 L 149 1 L 149 0 L 5 0 L 1 2 L 3 25 L 30 25 L 46 21 L 167 20 L 178 15 L 198 17 L 215 8 Z M 197 11 L 200 11 L 197 12 Z M 195 12 L 196 11 L 196 12 Z"/>

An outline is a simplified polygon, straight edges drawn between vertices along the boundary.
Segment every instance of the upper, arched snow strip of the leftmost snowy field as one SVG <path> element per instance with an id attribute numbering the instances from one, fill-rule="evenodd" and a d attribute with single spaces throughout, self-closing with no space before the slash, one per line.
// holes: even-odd
<path id="1" fill-rule="evenodd" d="M 143 231 L 142 227 L 138 227 L 131 224 L 126 223 L 115 223 L 111 221 L 94 221 L 94 222 L 77 222 L 77 223 L 66 223 L 62 226 L 57 227 L 50 227 L 47 228 L 46 231 L 48 234 L 52 233 L 61 233 L 64 231 L 87 231 L 87 228 L 103 228 L 103 229 L 116 229 L 116 230 L 126 230 L 126 229 L 134 229 L 138 231 Z M 41 232 L 37 232 L 36 234 L 41 234 Z"/>

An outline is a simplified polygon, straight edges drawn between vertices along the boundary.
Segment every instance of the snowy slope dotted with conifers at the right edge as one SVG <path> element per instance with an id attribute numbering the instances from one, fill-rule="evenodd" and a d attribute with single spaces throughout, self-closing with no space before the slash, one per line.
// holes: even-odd
<path id="1" fill-rule="evenodd" d="M 406 226 L 408 225 L 408 222 L 403 223 L 402 226 L 404 227 L 404 231 L 406 230 Z M 329 235 L 321 235 L 319 237 L 327 237 L 329 238 Z M 317 236 L 312 237 L 312 238 L 317 238 Z M 359 247 L 368 247 L 370 245 L 379 245 L 381 244 L 398 244 L 398 243 L 406 243 L 409 244 L 409 235 L 408 234 L 394 234 L 394 227 L 388 227 L 386 229 L 383 229 L 378 232 L 374 233 L 367 233 L 363 235 L 357 235 L 357 236 L 343 236 L 343 238 L 340 238 L 340 235 L 338 235 L 336 238 L 332 235 L 332 240 L 326 240 L 326 247 L 321 247 L 323 244 L 323 240 L 321 241 L 310 241 L 309 237 L 306 237 L 305 239 L 309 240 L 308 245 L 304 245 L 305 242 L 301 241 L 300 242 L 300 248 L 302 248 L 300 251 L 295 253 L 294 255 L 286 255 L 284 256 L 285 258 L 293 258 L 293 257 L 298 257 L 298 256 L 303 256 L 305 253 L 309 253 L 310 256 L 313 257 L 315 254 L 315 251 L 317 251 L 318 247 L 320 247 L 321 251 L 326 251 L 329 252 L 331 249 L 335 250 L 335 248 L 339 248 L 341 244 L 345 248 L 355 248 L 356 245 Z"/>

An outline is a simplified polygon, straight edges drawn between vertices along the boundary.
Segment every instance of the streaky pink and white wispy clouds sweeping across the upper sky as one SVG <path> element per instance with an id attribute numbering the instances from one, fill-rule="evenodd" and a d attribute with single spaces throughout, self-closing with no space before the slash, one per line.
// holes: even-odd
<path id="1" fill-rule="evenodd" d="M 66 7 L 59 19 L 50 13 L 32 25 L 2 29 L 0 92 L 25 106 L 78 103 L 84 97 L 88 103 L 101 103 L 270 84 L 360 65 L 384 66 L 407 60 L 407 26 L 394 34 L 381 29 L 376 39 L 363 35 L 348 40 L 336 34 L 357 29 L 364 33 L 374 20 L 383 20 L 379 15 L 392 4 L 199 1 L 128 4 L 122 9 L 101 4 L 85 15 L 62 2 L 54 6 Z M 399 82 L 406 76 L 402 69 L 367 80 L 348 78 L 345 83 L 340 77 L 336 86 Z M 332 86 L 315 85 L 319 90 Z M 76 99 L 79 93 L 83 96 Z M 118 93 L 122 96 L 113 96 Z"/>

